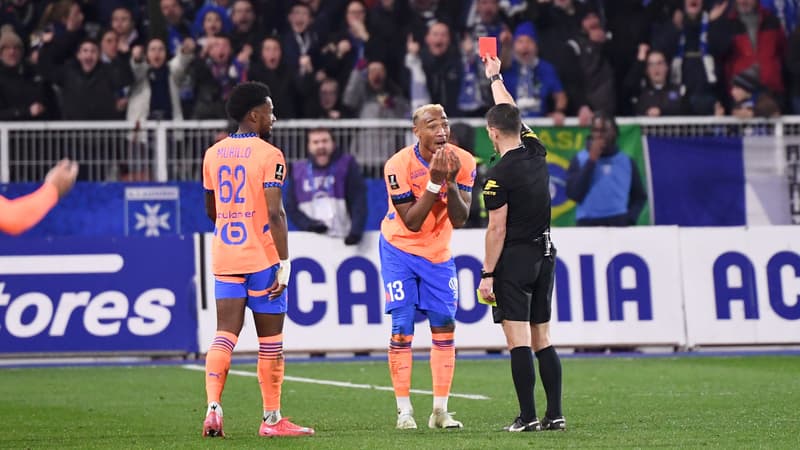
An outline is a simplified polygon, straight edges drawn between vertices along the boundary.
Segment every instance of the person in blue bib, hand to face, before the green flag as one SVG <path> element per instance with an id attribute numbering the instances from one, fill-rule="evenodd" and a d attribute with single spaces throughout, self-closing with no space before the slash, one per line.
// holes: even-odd
<path id="1" fill-rule="evenodd" d="M 635 225 L 647 193 L 636 163 L 617 147 L 617 123 L 599 113 L 586 149 L 567 169 L 567 197 L 578 204 L 578 226 Z"/>

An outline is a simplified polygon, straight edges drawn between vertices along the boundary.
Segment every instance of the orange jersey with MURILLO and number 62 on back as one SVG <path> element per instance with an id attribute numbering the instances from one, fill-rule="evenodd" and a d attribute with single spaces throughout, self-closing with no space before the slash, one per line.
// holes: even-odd
<path id="1" fill-rule="evenodd" d="M 286 176 L 283 152 L 255 133 L 232 134 L 206 151 L 203 187 L 213 193 L 217 213 L 215 275 L 260 272 L 279 262 L 264 189 L 281 189 Z"/>

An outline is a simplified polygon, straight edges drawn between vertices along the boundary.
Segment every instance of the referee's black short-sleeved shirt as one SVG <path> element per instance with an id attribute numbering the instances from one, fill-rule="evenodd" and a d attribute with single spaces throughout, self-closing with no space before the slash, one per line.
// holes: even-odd
<path id="1" fill-rule="evenodd" d="M 508 205 L 506 243 L 535 239 L 550 227 L 547 151 L 527 125 L 522 125 L 521 137 L 522 145 L 489 169 L 483 186 L 486 209 Z"/>

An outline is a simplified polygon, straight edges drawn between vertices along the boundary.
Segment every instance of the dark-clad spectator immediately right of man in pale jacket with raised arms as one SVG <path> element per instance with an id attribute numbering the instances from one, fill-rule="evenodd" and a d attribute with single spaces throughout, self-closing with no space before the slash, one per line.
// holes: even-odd
<path id="1" fill-rule="evenodd" d="M 207 56 L 192 62 L 195 82 L 195 119 L 224 119 L 225 102 L 234 86 L 245 81 L 250 58 L 233 57 L 231 41 L 225 35 L 208 38 Z M 202 55 L 202 53 L 201 53 Z"/>

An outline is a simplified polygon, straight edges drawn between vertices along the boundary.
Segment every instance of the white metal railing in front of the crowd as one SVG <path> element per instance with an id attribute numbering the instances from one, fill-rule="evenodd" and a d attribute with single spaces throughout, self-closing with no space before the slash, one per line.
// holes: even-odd
<path id="1" fill-rule="evenodd" d="M 479 118 L 451 123 L 481 127 Z M 800 116 L 742 121 L 718 117 L 620 118 L 620 125 L 639 124 L 650 136 L 761 136 L 775 146 L 776 174 L 788 177 L 791 208 L 800 223 Z M 549 119 L 527 120 L 532 127 L 551 126 Z M 38 182 L 63 157 L 81 162 L 84 181 L 200 180 L 203 153 L 226 131 L 227 122 L 163 121 L 140 124 L 109 122 L 0 123 L 0 182 Z M 566 125 L 577 125 L 574 118 Z M 415 141 L 408 120 L 287 120 L 275 124 L 272 142 L 289 162 L 305 158 L 306 132 L 329 128 L 340 148 L 356 157 L 364 174 L 381 177 L 394 152 Z"/>

